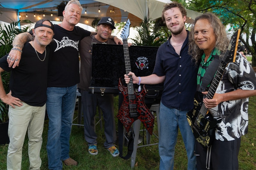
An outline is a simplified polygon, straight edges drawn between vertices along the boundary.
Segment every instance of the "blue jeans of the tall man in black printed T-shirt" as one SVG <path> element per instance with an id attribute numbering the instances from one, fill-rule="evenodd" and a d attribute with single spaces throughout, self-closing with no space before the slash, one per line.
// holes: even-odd
<path id="1" fill-rule="evenodd" d="M 69 137 L 76 103 L 76 85 L 47 88 L 46 108 L 49 117 L 48 168 L 62 169 L 69 158 Z"/>

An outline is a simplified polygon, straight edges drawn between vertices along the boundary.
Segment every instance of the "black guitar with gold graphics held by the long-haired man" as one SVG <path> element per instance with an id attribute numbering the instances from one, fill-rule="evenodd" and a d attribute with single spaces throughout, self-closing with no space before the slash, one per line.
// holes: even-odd
<path id="1" fill-rule="evenodd" d="M 212 99 L 217 87 L 220 83 L 224 70 L 229 62 L 233 62 L 236 58 L 237 44 L 239 40 L 240 29 L 232 35 L 228 49 L 225 54 L 221 54 L 222 58 L 217 72 L 209 87 L 207 99 Z M 187 113 L 188 123 L 196 140 L 204 147 L 210 147 L 215 137 L 215 127 L 221 122 L 221 117 L 213 118 L 208 108 L 203 103 L 202 93 L 197 91 L 194 97 L 194 109 Z"/>

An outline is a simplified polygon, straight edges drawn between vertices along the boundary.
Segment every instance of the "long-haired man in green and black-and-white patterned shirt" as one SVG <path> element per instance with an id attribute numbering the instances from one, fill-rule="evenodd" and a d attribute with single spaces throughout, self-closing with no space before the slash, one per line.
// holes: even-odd
<path id="1" fill-rule="evenodd" d="M 205 13 L 197 17 L 192 25 L 188 51 L 196 63 L 200 64 L 197 75 L 197 85 L 200 90 L 204 74 L 207 69 L 210 69 L 209 65 L 219 56 L 224 61 L 229 48 L 236 45 L 230 46 L 234 41 L 228 42 L 225 26 L 214 14 Z M 215 137 L 213 137 L 211 146 L 204 147 L 197 140 L 197 169 L 238 169 L 241 136 L 248 130 L 248 127 L 245 127 L 248 126 L 248 114 L 243 113 L 243 104 L 248 103 L 249 97 L 256 94 L 256 77 L 249 62 L 236 52 L 236 48 L 230 55 L 231 59 L 234 55 L 236 60 L 234 62 L 231 60 L 230 63 L 227 62 L 228 64 L 224 65 L 222 78 L 222 74 L 217 76 L 220 77 L 219 85 L 214 81 L 216 78 L 214 77 L 206 90 L 202 92 L 206 95 L 204 99 L 202 98 L 203 105 L 207 109 L 211 108 L 208 110 L 211 116 L 220 117 L 221 121 L 213 128 Z M 212 98 L 208 98 L 212 84 L 216 84 L 216 91 L 213 92 Z"/>

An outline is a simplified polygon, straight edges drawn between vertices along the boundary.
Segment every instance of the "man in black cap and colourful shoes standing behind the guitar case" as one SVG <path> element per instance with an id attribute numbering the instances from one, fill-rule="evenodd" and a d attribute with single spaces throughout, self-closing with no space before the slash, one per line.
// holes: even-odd
<path id="1" fill-rule="evenodd" d="M 103 17 L 97 25 L 97 34 L 85 37 L 81 41 L 80 46 L 80 83 L 78 88 L 81 89 L 82 105 L 84 113 L 84 138 L 88 142 L 89 153 L 97 155 L 97 135 L 94 131 L 94 116 L 96 113 L 97 103 L 100 106 L 104 121 L 106 141 L 104 147 L 108 149 L 113 157 L 119 155 L 119 151 L 115 146 L 116 142 L 116 126 L 114 120 L 114 96 L 113 94 L 89 94 L 88 89 L 91 81 L 92 70 L 92 43 L 116 44 L 109 38 L 115 23 L 110 17 Z"/>

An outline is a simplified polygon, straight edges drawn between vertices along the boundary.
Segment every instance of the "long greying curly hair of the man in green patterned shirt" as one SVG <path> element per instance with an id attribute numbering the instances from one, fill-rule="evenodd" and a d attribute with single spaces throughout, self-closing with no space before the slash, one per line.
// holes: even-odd
<path id="1" fill-rule="evenodd" d="M 229 40 L 226 33 L 225 26 L 221 23 L 220 19 L 212 14 L 212 13 L 204 13 L 201 16 L 196 17 L 195 21 L 192 23 L 192 27 L 190 29 L 189 33 L 189 48 L 188 48 L 188 54 L 192 56 L 192 58 L 198 63 L 200 61 L 202 55 L 204 54 L 204 50 L 200 49 L 195 42 L 195 24 L 200 19 L 207 19 L 213 28 L 213 31 L 215 33 L 216 42 L 215 47 L 220 50 L 220 52 L 224 52 L 227 50 Z"/>

